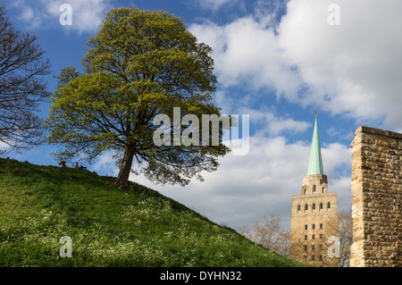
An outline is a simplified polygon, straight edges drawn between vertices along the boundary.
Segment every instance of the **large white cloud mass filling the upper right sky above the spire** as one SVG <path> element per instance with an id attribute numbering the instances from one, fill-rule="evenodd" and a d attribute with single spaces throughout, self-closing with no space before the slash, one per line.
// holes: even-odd
<path id="1" fill-rule="evenodd" d="M 402 130 L 402 19 L 398 0 L 290 0 L 280 21 L 269 9 L 224 25 L 190 25 L 214 48 L 222 88 L 268 88 L 289 102 Z"/>

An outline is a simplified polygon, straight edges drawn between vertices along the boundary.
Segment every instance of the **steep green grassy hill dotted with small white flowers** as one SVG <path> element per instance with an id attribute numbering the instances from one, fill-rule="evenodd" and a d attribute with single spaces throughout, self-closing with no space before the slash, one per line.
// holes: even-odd
<path id="1" fill-rule="evenodd" d="M 300 265 L 136 183 L 0 159 L 0 266 Z"/>

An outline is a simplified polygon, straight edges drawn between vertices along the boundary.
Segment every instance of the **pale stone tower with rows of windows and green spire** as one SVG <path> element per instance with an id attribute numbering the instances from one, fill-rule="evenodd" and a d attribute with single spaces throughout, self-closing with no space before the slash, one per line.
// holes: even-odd
<path id="1" fill-rule="evenodd" d="M 290 255 L 319 266 L 336 266 L 337 258 L 329 247 L 337 236 L 337 193 L 328 192 L 327 176 L 323 173 L 317 116 L 311 144 L 307 175 L 301 195 L 292 197 L 290 219 Z"/>

